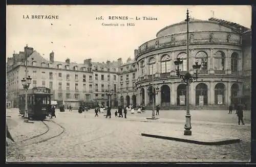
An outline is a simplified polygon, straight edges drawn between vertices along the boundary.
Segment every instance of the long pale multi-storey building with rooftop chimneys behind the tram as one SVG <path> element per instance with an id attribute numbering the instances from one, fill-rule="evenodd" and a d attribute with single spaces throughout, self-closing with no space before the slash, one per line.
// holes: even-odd
<path id="1" fill-rule="evenodd" d="M 110 88 L 114 90 L 111 105 L 117 105 L 117 61 L 94 63 L 86 59 L 83 63 L 74 63 L 67 58 L 65 62 L 59 62 L 54 61 L 53 52 L 48 61 L 32 47 L 25 47 L 25 50 L 19 54 L 14 53 L 7 62 L 6 98 L 12 107 L 18 106 L 18 94 L 23 89 L 21 80 L 26 72 L 25 53 L 28 53 L 28 74 L 32 78 L 30 88 L 50 88 L 52 100 L 57 100 L 58 105 L 78 107 L 79 102 L 85 102 L 106 106 L 108 97 L 105 90 Z"/>

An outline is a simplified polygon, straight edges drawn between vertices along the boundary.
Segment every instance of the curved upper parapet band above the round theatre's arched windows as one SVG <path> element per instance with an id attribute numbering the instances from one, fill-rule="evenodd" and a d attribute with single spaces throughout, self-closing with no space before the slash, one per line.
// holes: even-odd
<path id="1" fill-rule="evenodd" d="M 230 32 L 190 32 L 189 33 L 189 43 L 190 44 L 209 44 L 209 43 L 223 43 L 223 44 L 234 44 L 241 45 L 242 39 L 241 35 L 237 33 Z M 156 38 L 147 41 L 139 46 L 135 50 L 135 58 L 138 56 L 154 51 L 157 49 L 164 48 L 166 46 L 178 46 L 186 44 L 186 33 L 173 34 L 160 38 Z"/>

